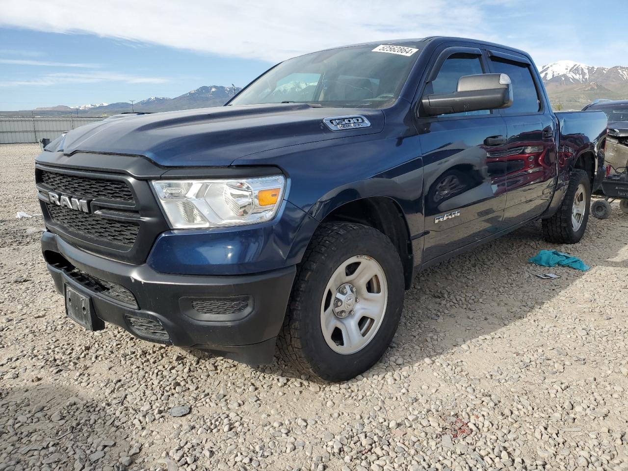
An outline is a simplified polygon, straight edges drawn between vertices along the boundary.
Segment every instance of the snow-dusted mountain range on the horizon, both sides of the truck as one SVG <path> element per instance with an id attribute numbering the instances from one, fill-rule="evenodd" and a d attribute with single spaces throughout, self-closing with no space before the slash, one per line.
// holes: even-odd
<path id="1" fill-rule="evenodd" d="M 556 110 L 579 110 L 597 98 L 628 99 L 628 67 L 595 67 L 559 60 L 541 67 L 541 78 L 549 101 Z M 53 106 L 34 110 L 0 111 L 0 116 L 111 116 L 122 112 L 158 112 L 222 106 L 240 87 L 206 85 L 175 98 L 150 97 L 131 103 L 98 103 L 82 106 Z"/>

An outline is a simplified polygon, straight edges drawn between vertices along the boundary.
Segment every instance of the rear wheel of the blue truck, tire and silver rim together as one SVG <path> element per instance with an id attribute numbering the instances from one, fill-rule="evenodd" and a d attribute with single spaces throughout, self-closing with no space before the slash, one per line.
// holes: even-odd
<path id="1" fill-rule="evenodd" d="M 565 198 L 556 213 L 543 219 L 543 237 L 556 244 L 575 244 L 587 229 L 591 200 L 588 173 L 579 168 L 571 171 Z"/>

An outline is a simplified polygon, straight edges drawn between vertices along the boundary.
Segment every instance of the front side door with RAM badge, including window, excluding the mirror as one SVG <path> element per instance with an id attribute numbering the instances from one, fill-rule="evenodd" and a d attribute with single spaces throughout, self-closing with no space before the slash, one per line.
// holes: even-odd
<path id="1" fill-rule="evenodd" d="M 421 97 L 453 93 L 460 77 L 488 72 L 479 48 L 452 46 L 435 55 Z M 419 110 L 418 127 L 428 261 L 503 229 L 506 124 L 493 110 L 430 117 Z"/>

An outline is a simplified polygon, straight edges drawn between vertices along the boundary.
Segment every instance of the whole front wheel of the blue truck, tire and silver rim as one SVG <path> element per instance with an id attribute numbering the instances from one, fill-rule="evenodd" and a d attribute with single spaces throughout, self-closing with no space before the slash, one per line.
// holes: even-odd
<path id="1" fill-rule="evenodd" d="M 351 379 L 386 351 L 403 297 L 388 237 L 362 224 L 322 224 L 298 266 L 279 349 L 309 374 Z"/>

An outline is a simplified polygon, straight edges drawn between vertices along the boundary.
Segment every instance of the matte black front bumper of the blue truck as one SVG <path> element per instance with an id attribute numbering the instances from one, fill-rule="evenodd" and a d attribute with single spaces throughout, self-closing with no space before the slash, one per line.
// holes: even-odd
<path id="1" fill-rule="evenodd" d="M 41 247 L 57 291 L 64 293 L 68 284 L 89 295 L 104 322 L 144 340 L 212 350 L 251 364 L 273 359 L 295 266 L 240 276 L 190 276 L 106 259 L 48 231 Z"/>

